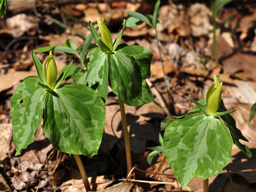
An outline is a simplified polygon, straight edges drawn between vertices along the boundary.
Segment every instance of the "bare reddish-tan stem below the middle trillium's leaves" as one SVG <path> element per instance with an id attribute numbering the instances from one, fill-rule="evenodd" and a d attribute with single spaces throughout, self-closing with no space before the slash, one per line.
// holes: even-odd
<path id="1" fill-rule="evenodd" d="M 120 106 L 122 124 L 123 124 L 124 144 L 125 144 L 125 154 L 126 154 L 126 168 L 127 168 L 127 174 L 128 174 L 132 170 L 130 139 L 129 139 L 129 132 L 127 129 L 127 120 L 125 116 L 124 103 L 121 100 L 119 100 L 119 106 Z"/>

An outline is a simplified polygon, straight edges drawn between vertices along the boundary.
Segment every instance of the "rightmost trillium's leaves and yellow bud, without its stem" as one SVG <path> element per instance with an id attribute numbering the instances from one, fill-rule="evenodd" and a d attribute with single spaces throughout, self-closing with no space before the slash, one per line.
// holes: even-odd
<path id="1" fill-rule="evenodd" d="M 206 180 L 220 173 L 231 159 L 233 143 L 246 156 L 252 156 L 250 149 L 239 142 L 248 140 L 229 114 L 236 109 L 227 111 L 221 93 L 222 82 L 214 75 L 206 99 L 197 102 L 189 96 L 196 104 L 194 109 L 183 116 L 167 116 L 161 123 L 165 157 L 183 188 L 193 177 Z"/>

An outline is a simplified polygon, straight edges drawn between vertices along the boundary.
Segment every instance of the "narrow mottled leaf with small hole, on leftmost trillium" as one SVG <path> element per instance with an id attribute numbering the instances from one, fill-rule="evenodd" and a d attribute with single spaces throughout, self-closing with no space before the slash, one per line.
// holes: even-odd
<path id="1" fill-rule="evenodd" d="M 11 98 L 15 155 L 20 155 L 22 149 L 34 142 L 37 128 L 42 121 L 47 91 L 37 84 L 37 81 L 39 78 L 35 76 L 25 78 Z"/>

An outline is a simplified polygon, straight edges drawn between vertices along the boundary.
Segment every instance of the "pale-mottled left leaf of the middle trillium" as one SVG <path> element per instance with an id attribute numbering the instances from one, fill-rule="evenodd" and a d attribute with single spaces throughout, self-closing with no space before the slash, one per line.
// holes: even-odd
<path id="1" fill-rule="evenodd" d="M 102 52 L 99 47 L 95 47 L 87 53 L 86 57 L 90 61 L 84 84 L 99 93 L 106 102 L 108 100 L 108 54 Z M 83 82 L 82 79 L 80 81 Z"/>

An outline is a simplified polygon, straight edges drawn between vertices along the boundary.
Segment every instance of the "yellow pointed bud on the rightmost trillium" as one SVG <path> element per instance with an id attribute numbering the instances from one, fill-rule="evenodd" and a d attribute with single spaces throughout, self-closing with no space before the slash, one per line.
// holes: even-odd
<path id="1" fill-rule="evenodd" d="M 217 112 L 219 108 L 220 98 L 222 93 L 222 82 L 219 82 L 218 77 L 214 75 L 214 84 L 212 84 L 206 93 L 206 104 L 208 111 L 211 114 Z"/>

